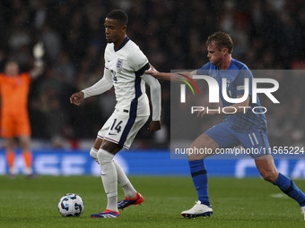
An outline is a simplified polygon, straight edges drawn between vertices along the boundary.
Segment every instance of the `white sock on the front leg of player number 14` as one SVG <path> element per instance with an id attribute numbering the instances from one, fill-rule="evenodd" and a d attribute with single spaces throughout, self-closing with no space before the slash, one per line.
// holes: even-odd
<path id="1" fill-rule="evenodd" d="M 101 170 L 101 181 L 108 198 L 106 209 L 118 211 L 118 173 L 111 153 L 100 148 L 98 160 Z"/>

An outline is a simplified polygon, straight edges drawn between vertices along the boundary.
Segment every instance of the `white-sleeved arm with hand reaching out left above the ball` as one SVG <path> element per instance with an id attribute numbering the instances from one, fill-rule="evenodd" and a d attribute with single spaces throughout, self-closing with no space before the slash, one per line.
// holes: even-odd
<path id="1" fill-rule="evenodd" d="M 105 67 L 102 79 L 96 82 L 92 87 L 74 93 L 70 97 L 70 103 L 79 106 L 82 104 L 84 98 L 100 95 L 111 89 L 112 86 L 113 81 L 111 79 L 111 72 Z"/>

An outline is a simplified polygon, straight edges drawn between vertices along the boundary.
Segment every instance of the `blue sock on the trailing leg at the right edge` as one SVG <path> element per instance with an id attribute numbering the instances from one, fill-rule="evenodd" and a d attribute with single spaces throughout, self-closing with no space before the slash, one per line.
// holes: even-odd
<path id="1" fill-rule="evenodd" d="M 280 173 L 274 185 L 277 185 L 283 193 L 295 199 L 300 204 L 300 207 L 305 206 L 305 194 L 290 178 Z"/>

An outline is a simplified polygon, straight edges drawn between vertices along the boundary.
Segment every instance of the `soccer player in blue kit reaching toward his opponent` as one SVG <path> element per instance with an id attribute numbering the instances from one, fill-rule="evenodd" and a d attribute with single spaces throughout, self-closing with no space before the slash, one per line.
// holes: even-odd
<path id="1" fill-rule="evenodd" d="M 193 75 L 207 74 L 217 80 L 220 88 L 220 97 L 223 107 L 231 107 L 236 110 L 235 114 L 224 114 L 223 109 L 206 109 L 198 115 L 224 114 L 224 121 L 213 128 L 205 131 L 197 137 L 190 148 L 210 148 L 213 152 L 218 148 L 233 148 L 242 145 L 244 148 L 262 148 L 260 154 L 252 154 L 255 159 L 257 170 L 262 177 L 274 185 L 277 185 L 289 197 L 295 199 L 300 207 L 301 213 L 305 215 L 305 194 L 292 182 L 292 180 L 276 170 L 273 156 L 270 154 L 269 142 L 266 134 L 266 116 L 253 112 L 253 107 L 259 107 L 260 102 L 252 103 L 252 89 L 248 89 L 248 97 L 240 103 L 231 104 L 222 97 L 222 78 L 227 80 L 227 92 L 231 98 L 244 96 L 244 79 L 249 81 L 253 78 L 252 73 L 244 63 L 233 59 L 233 41 L 230 35 L 223 31 L 213 33 L 206 41 L 207 57 L 210 62 L 193 72 L 165 73 L 155 69 L 146 71 L 157 79 L 176 80 L 181 74 L 192 77 Z M 246 95 L 247 96 L 247 95 Z M 250 106 L 245 110 L 245 106 Z M 246 112 L 245 112 L 246 111 Z M 258 113 L 258 112 L 257 112 Z M 181 213 L 184 217 L 197 217 L 212 215 L 213 209 L 210 205 L 207 172 L 205 169 L 205 157 L 208 154 L 188 154 L 190 173 L 197 191 L 198 201 L 189 210 Z"/>

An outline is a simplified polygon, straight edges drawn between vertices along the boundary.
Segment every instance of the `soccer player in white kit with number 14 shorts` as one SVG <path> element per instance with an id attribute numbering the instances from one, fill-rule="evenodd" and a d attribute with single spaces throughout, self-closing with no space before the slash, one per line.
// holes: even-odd
<path id="1" fill-rule="evenodd" d="M 126 36 L 127 21 L 126 13 L 121 10 L 111 11 L 107 15 L 104 25 L 108 45 L 104 54 L 103 78 L 92 87 L 70 97 L 71 103 L 78 106 L 84 98 L 102 94 L 112 86 L 116 93 L 115 111 L 98 132 L 90 152 L 100 164 L 101 180 L 108 197 L 106 210 L 92 217 L 118 217 L 118 209 L 141 204 L 144 200 L 113 157 L 122 148 L 130 148 L 136 133 L 149 118 L 150 106 L 145 83 L 150 87 L 153 106 L 153 120 L 148 130 L 161 129 L 161 86 L 153 76 L 145 74 L 150 64 L 140 48 Z M 126 196 L 119 202 L 118 183 Z"/>

